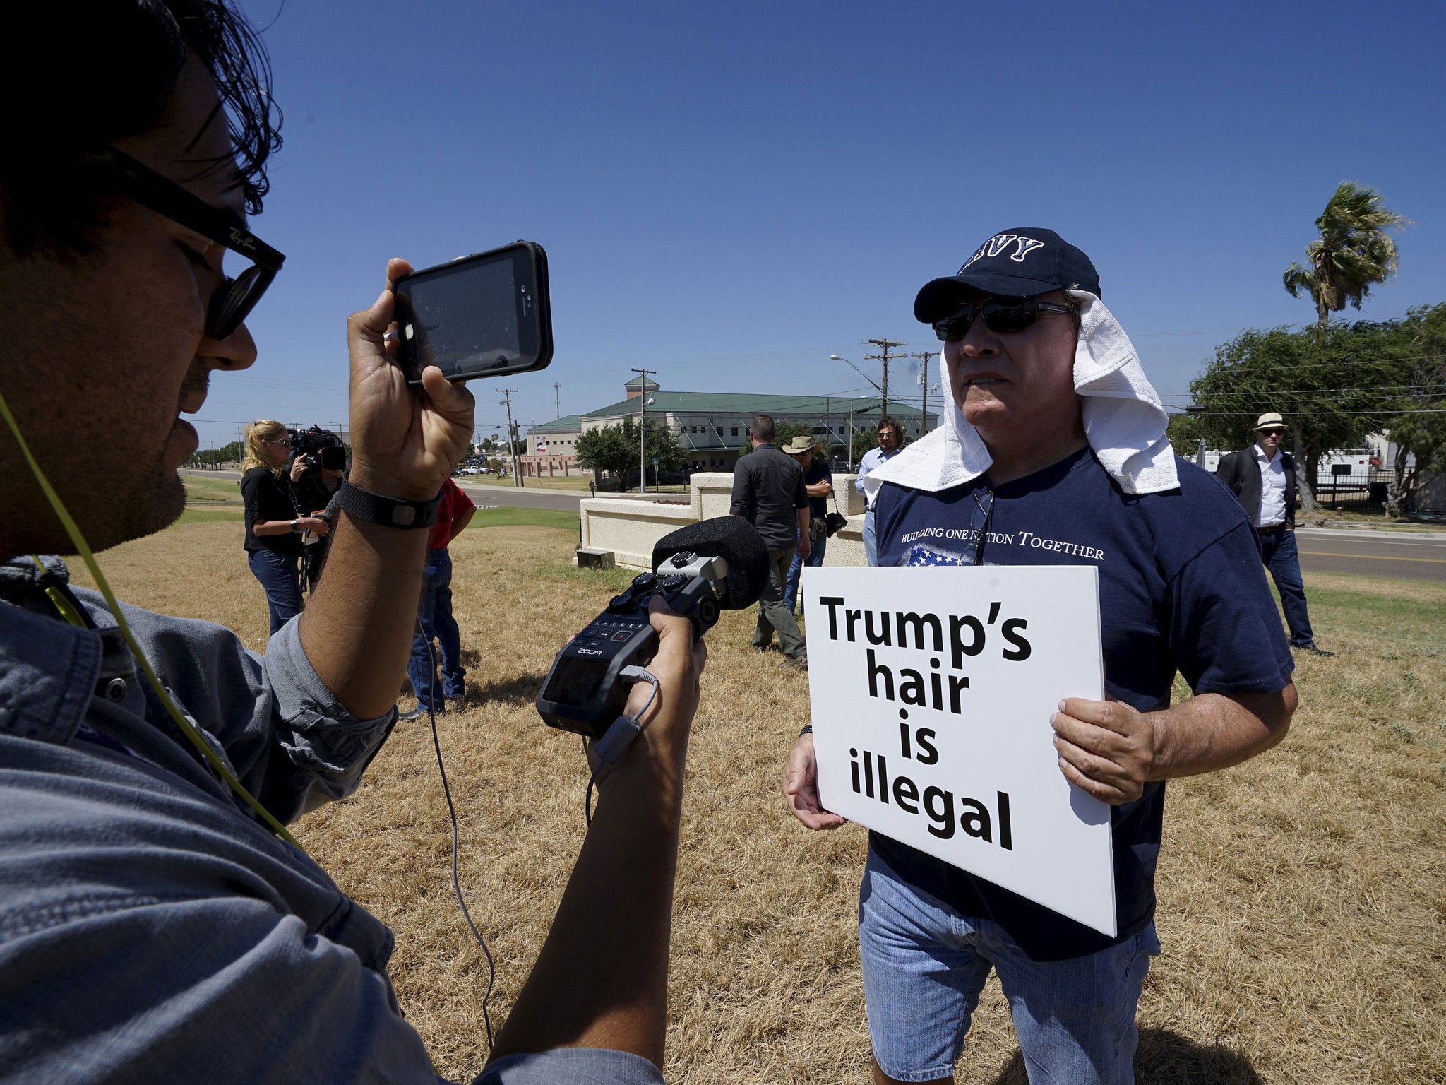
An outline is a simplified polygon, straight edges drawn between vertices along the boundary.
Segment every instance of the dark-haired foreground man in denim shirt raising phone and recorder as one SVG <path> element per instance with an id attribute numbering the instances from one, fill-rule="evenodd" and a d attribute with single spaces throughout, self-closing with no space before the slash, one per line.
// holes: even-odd
<path id="1" fill-rule="evenodd" d="M 12 315 L 0 346 L 0 1073 L 435 1084 L 388 979 L 390 932 L 266 817 L 294 822 L 354 793 L 395 725 L 427 532 L 392 527 L 392 514 L 425 522 L 471 435 L 473 396 L 435 367 L 409 388 L 392 363 L 392 282 L 411 268 L 390 260 L 380 297 L 347 323 L 354 459 L 331 571 L 265 657 L 218 625 L 113 613 L 71 589 L 58 558 L 32 563 L 80 545 L 40 472 L 94 550 L 181 514 L 176 469 L 197 437 L 178 415 L 201 408 L 213 370 L 254 362 L 243 320 L 270 278 L 244 260 L 281 263 L 244 214 L 260 210 L 278 145 L 246 22 L 223 0 L 82 9 L 13 13 L 17 41 L 64 43 L 67 64 L 0 68 L 7 100 L 26 103 L 9 135 L 27 149 L 0 158 Z M 659 692 L 646 729 L 599 778 L 487 1085 L 662 1081 L 703 650 L 685 619 L 651 621 Z M 639 683 L 630 710 L 646 693 Z M 204 732 L 195 748 L 178 719 Z"/>

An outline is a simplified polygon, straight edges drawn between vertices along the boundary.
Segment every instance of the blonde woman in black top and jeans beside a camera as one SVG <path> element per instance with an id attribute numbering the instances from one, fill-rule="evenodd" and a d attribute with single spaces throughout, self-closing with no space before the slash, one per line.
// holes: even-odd
<path id="1" fill-rule="evenodd" d="M 246 506 L 246 564 L 266 590 L 270 635 L 301 613 L 301 584 L 296 563 L 301 560 L 301 532 L 325 535 L 327 522 L 302 516 L 296 511 L 292 479 L 305 464 L 291 460 L 291 434 L 281 422 L 265 418 L 244 433 L 241 460 L 241 501 Z M 291 463 L 288 472 L 288 461 Z"/>

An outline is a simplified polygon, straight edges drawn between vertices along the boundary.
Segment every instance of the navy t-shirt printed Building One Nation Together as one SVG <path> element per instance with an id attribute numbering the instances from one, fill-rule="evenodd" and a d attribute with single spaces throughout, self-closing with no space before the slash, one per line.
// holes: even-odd
<path id="1" fill-rule="evenodd" d="M 1294 670 L 1239 503 L 1196 464 L 1177 459 L 1176 469 L 1178 489 L 1125 493 L 1083 448 L 993 488 L 985 538 L 985 564 L 1099 569 L 1105 690 L 1141 712 L 1170 705 L 1176 670 L 1196 693 L 1225 694 L 1274 693 Z M 988 488 L 986 479 L 938 493 L 885 483 L 875 508 L 879 564 L 962 564 L 972 557 L 973 493 Z M 995 920 L 1035 961 L 1063 961 L 1150 923 L 1164 799 L 1164 783 L 1148 783 L 1134 803 L 1111 807 L 1115 939 L 886 836 L 870 842 L 912 885 Z"/>

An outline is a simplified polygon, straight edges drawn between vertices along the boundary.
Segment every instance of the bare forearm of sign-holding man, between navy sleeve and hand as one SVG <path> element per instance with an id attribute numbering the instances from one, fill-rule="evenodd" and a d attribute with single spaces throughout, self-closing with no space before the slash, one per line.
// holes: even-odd
<path id="1" fill-rule="evenodd" d="M 1147 778 L 1213 773 L 1262 754 L 1285 738 L 1297 703 L 1290 684 L 1278 693 L 1202 693 L 1151 712 L 1154 760 Z"/>

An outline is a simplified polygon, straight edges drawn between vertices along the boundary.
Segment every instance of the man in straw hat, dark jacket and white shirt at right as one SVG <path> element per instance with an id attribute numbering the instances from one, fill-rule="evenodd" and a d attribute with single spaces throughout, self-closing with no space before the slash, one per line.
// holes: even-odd
<path id="1" fill-rule="evenodd" d="M 1288 431 L 1278 411 L 1267 411 L 1255 420 L 1255 443 L 1222 456 L 1215 473 L 1239 499 L 1261 537 L 1261 560 L 1280 592 L 1290 647 L 1335 655 L 1316 647 L 1306 613 L 1306 582 L 1296 551 L 1296 460 L 1280 447 Z"/>

